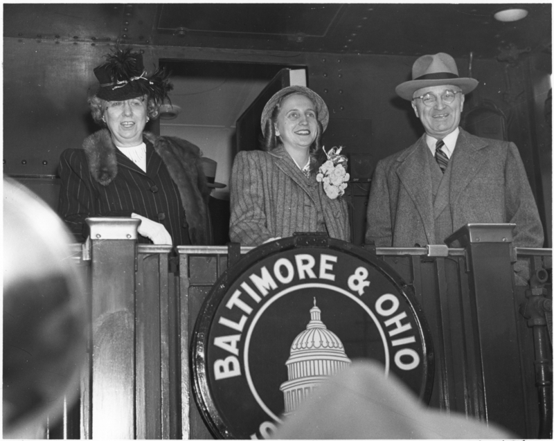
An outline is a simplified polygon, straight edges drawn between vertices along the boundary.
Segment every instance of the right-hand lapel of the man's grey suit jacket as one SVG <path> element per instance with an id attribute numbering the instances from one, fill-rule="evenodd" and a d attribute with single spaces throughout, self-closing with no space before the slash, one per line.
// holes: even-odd
<path id="1" fill-rule="evenodd" d="M 454 206 L 461 192 L 474 179 L 483 166 L 487 143 L 482 138 L 476 138 L 460 129 L 456 148 L 452 155 L 452 177 L 450 179 L 450 205 Z"/>

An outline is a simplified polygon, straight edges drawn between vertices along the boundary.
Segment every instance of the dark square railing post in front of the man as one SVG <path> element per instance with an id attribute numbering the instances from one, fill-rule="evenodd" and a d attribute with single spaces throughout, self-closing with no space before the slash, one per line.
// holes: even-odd
<path id="1" fill-rule="evenodd" d="M 445 240 L 459 240 L 467 253 L 472 327 L 481 364 L 485 420 L 525 437 L 527 433 L 524 372 L 517 333 L 515 279 L 512 264 L 514 224 L 467 224 Z M 491 399 L 487 399 L 490 397 Z"/>

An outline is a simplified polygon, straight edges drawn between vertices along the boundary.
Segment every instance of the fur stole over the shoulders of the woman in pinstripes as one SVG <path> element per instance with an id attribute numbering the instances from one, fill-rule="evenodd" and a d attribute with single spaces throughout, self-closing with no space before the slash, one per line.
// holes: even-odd
<path id="1" fill-rule="evenodd" d="M 207 198 L 210 189 L 199 161 L 202 152 L 193 143 L 174 136 L 156 136 L 149 132 L 144 132 L 143 136 L 146 142 L 154 145 L 154 151 L 161 157 L 179 189 L 190 241 L 195 245 L 209 245 L 211 229 Z M 88 136 L 83 150 L 93 179 L 102 186 L 108 186 L 117 176 L 116 146 L 111 141 L 109 130 L 102 129 Z"/>

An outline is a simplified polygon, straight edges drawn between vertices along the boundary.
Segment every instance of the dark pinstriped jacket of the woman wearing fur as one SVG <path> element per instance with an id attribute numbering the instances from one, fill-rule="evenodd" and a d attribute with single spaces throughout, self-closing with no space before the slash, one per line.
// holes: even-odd
<path id="1" fill-rule="evenodd" d="M 93 179 L 84 150 L 62 152 L 58 169 L 62 178 L 58 214 L 77 240 L 82 241 L 88 235 L 84 222 L 87 217 L 129 217 L 136 213 L 163 224 L 174 246 L 190 244 L 179 190 L 152 144 L 145 143 L 146 173 L 116 149 L 118 174 L 109 186 Z M 141 235 L 138 242 L 152 243 Z"/>

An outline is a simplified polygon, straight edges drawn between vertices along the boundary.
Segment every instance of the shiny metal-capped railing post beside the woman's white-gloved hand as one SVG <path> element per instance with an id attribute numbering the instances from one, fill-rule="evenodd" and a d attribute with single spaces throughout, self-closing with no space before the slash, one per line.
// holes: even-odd
<path id="1" fill-rule="evenodd" d="M 135 267 L 139 219 L 89 218 L 91 437 L 135 438 Z"/>

